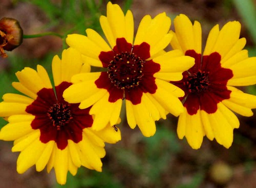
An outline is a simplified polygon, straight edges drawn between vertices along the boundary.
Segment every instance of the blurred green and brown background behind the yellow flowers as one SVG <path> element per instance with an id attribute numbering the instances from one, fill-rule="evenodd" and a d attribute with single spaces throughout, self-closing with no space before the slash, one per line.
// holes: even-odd
<path id="1" fill-rule="evenodd" d="M 54 55 L 61 55 L 67 48 L 68 34 L 85 34 L 92 28 L 102 34 L 99 16 L 105 15 L 108 1 L 98 0 L 1 0 L 0 18 L 19 20 L 25 35 L 55 32 L 62 36 L 45 36 L 24 39 L 17 49 L 8 52 L 7 59 L 0 59 L 0 95 L 16 92 L 11 83 L 17 79 L 15 72 L 40 64 L 51 72 Z M 145 14 L 157 15 L 165 11 L 175 18 L 184 13 L 191 20 L 202 24 L 203 39 L 215 24 L 223 26 L 227 21 L 242 23 L 241 37 L 247 39 L 249 56 L 256 56 L 256 1 L 253 0 L 125 0 L 118 3 L 124 12 L 134 13 L 135 28 Z M 256 62 L 255 62 L 256 63 Z M 240 88 L 256 94 L 256 87 Z M 255 110 L 254 110 L 255 113 Z M 256 187 L 256 118 L 239 116 L 241 125 L 234 130 L 233 145 L 225 149 L 204 139 L 199 150 L 191 149 L 186 140 L 176 134 L 177 118 L 157 123 L 154 137 L 144 138 L 138 128 L 131 130 L 124 121 L 119 128 L 122 141 L 106 144 L 106 156 L 102 159 L 103 172 L 80 168 L 76 176 L 68 174 L 66 185 L 55 182 L 54 173 L 38 173 L 32 167 L 25 174 L 16 173 L 16 157 L 11 153 L 12 142 L 0 141 L 0 188 L 6 187 L 174 187 L 174 188 L 254 188 Z M 0 127 L 6 122 L 1 119 Z"/>

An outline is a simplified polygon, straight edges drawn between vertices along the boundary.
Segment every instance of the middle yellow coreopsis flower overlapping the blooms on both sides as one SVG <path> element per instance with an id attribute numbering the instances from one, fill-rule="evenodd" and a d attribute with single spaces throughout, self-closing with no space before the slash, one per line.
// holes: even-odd
<path id="1" fill-rule="evenodd" d="M 178 97 L 184 92 L 170 84 L 182 79 L 182 72 L 194 65 L 194 59 L 180 50 L 165 52 L 172 39 L 168 34 L 170 18 L 165 13 L 143 17 L 134 40 L 133 14 L 108 3 L 100 24 L 107 42 L 94 30 L 87 36 L 68 35 L 69 46 L 82 53 L 85 62 L 102 67 L 102 72 L 81 73 L 71 79 L 73 85 L 63 97 L 79 108 L 92 106 L 93 128 L 100 130 L 119 118 L 125 99 L 126 118 L 131 128 L 139 126 L 144 136 L 153 136 L 155 121 L 167 113 L 178 116 L 183 106 Z"/>

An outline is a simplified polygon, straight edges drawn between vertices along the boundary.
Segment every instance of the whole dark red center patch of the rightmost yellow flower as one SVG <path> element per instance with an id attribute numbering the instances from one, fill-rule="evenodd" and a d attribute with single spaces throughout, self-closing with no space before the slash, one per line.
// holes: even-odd
<path id="1" fill-rule="evenodd" d="M 195 65 L 183 72 L 183 79 L 171 82 L 184 92 L 184 106 L 189 115 L 197 114 L 203 110 L 208 114 L 217 111 L 217 104 L 230 98 L 227 82 L 233 77 L 232 70 L 221 67 L 221 56 L 213 52 L 201 58 L 195 50 L 187 50 L 186 56 L 195 58 Z"/>

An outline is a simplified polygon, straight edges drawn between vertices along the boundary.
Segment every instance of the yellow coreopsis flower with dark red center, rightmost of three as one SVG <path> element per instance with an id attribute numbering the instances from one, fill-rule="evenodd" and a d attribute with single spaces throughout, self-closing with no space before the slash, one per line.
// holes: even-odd
<path id="1" fill-rule="evenodd" d="M 248 58 L 243 49 L 246 40 L 239 38 L 241 24 L 238 21 L 211 29 L 202 52 L 202 31 L 198 21 L 191 23 L 183 14 L 174 20 L 175 33 L 170 42 L 187 56 L 195 58 L 195 65 L 183 72 L 183 79 L 172 82 L 185 91 L 185 111 L 178 121 L 178 137 L 184 136 L 188 144 L 200 148 L 203 137 L 229 148 L 233 141 L 233 129 L 239 120 L 233 112 L 252 116 L 256 97 L 233 86 L 256 83 L 256 57 Z M 233 111 L 233 112 L 232 112 Z"/>

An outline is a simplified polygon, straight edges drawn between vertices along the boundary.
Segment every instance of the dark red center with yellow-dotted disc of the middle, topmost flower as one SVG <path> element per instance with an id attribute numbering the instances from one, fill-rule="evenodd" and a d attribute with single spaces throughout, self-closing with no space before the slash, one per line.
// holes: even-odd
<path id="1" fill-rule="evenodd" d="M 100 52 L 99 59 L 108 71 L 101 72 L 95 81 L 97 88 L 108 90 L 109 102 L 125 98 L 139 104 L 143 93 L 154 94 L 157 90 L 153 75 L 160 70 L 160 65 L 148 58 L 149 44 L 133 46 L 124 38 L 118 38 L 113 50 Z"/>

